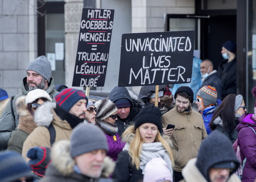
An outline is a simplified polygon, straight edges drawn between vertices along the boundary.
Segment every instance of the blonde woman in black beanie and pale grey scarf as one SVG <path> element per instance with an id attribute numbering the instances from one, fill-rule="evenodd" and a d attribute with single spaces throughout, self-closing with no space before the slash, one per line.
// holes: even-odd
<path id="1" fill-rule="evenodd" d="M 173 175 L 171 140 L 163 139 L 161 130 L 160 110 L 154 105 L 142 108 L 134 126 L 128 127 L 122 135 L 126 145 L 118 155 L 112 178 L 118 182 L 142 181 L 145 165 L 152 158 L 163 158 Z"/>

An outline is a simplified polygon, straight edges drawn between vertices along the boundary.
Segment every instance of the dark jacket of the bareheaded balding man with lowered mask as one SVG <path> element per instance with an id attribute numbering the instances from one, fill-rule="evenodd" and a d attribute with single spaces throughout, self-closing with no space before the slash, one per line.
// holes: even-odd
<path id="1" fill-rule="evenodd" d="M 202 82 L 200 88 L 210 85 L 211 87 L 215 87 L 217 90 L 217 98 L 222 100 L 222 82 L 216 70 L 213 70 L 209 76 Z"/>

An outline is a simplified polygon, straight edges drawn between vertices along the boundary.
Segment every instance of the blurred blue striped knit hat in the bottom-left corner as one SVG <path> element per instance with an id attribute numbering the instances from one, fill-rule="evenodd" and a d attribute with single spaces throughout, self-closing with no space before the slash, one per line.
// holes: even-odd
<path id="1" fill-rule="evenodd" d="M 21 177 L 33 177 L 26 161 L 17 152 L 0 152 L 0 164 L 0 182 L 10 182 Z"/>

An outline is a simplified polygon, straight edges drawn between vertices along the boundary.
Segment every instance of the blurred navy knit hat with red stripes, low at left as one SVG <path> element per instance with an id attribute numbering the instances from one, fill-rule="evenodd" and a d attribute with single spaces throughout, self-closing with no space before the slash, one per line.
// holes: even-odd
<path id="1" fill-rule="evenodd" d="M 27 156 L 30 158 L 28 165 L 33 173 L 40 177 L 45 176 L 45 170 L 51 162 L 51 149 L 49 147 L 33 147 L 28 150 Z"/>

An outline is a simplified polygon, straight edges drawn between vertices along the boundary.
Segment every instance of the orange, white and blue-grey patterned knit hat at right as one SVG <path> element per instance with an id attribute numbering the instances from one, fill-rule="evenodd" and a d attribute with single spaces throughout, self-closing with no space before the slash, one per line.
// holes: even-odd
<path id="1" fill-rule="evenodd" d="M 197 97 L 202 99 L 204 107 L 209 105 L 216 105 L 217 102 L 217 90 L 215 87 L 209 85 L 200 88 L 197 92 Z"/>

